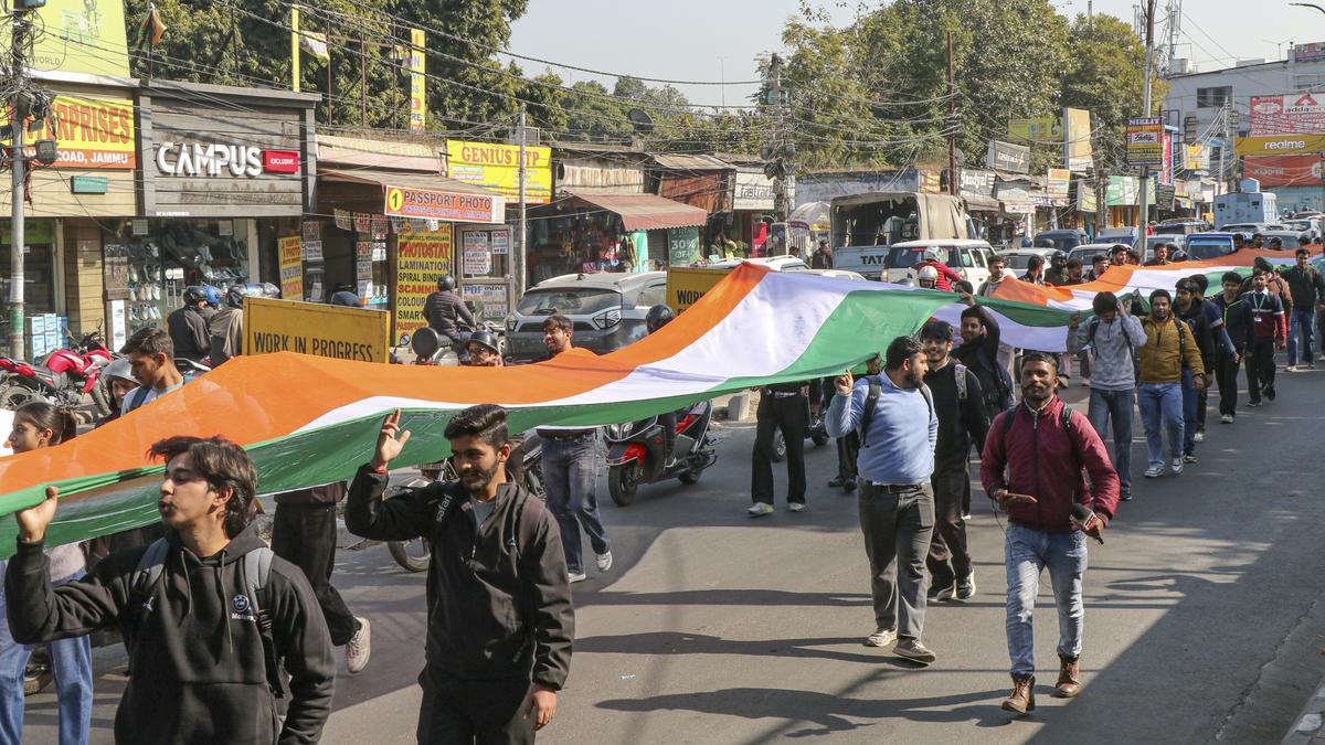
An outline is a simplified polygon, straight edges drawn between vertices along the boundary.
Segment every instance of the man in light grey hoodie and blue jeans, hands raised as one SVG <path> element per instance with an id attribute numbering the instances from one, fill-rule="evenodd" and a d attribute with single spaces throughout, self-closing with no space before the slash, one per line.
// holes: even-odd
<path id="1" fill-rule="evenodd" d="M 1068 351 L 1089 349 L 1089 418 L 1100 439 L 1113 424 L 1113 468 L 1122 500 L 1132 498 L 1132 411 L 1137 402 L 1137 350 L 1145 346 L 1141 321 L 1128 315 L 1126 304 L 1110 292 L 1094 296 L 1094 317 L 1080 327 L 1073 321 Z M 1075 347 L 1075 349 L 1073 349 Z"/>

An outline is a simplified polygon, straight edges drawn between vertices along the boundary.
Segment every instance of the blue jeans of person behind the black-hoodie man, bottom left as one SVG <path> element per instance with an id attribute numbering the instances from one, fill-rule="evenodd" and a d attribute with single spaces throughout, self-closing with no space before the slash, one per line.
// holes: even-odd
<path id="1" fill-rule="evenodd" d="M 80 570 L 54 585 L 73 582 L 83 574 Z M 19 644 L 9 635 L 4 606 L 4 593 L 0 591 L 0 742 L 23 742 L 23 672 L 32 656 L 32 646 Z M 91 640 L 87 636 L 60 639 L 49 642 L 46 648 L 56 677 L 60 745 L 87 742 L 91 732 Z"/>

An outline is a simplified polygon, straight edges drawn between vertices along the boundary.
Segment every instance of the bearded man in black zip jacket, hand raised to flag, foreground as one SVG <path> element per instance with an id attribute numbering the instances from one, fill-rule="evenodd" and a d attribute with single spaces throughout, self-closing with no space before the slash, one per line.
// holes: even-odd
<path id="1" fill-rule="evenodd" d="M 432 541 L 419 742 L 533 742 L 556 713 L 575 634 L 560 533 L 539 498 L 506 480 L 504 408 L 472 406 L 445 435 L 460 481 L 383 501 L 387 465 L 409 440 L 400 411 L 388 415 L 350 484 L 344 524 L 364 538 Z"/>

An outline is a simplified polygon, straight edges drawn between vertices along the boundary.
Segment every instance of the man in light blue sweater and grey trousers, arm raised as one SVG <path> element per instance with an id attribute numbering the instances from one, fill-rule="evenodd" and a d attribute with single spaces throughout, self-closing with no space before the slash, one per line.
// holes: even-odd
<path id="1" fill-rule="evenodd" d="M 868 647 L 928 665 L 925 557 L 934 532 L 934 444 L 938 418 L 925 386 L 929 363 L 912 337 L 897 337 L 884 355 L 884 372 L 855 380 L 837 376 L 837 395 L 824 424 L 833 437 L 860 431 L 860 530 L 869 557 L 874 632 Z M 926 426 L 921 426 L 921 422 Z"/>

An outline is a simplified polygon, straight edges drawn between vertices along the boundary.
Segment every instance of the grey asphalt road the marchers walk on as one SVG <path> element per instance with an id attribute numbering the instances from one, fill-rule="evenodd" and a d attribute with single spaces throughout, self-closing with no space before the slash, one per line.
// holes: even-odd
<path id="1" fill-rule="evenodd" d="M 753 428 L 723 427 L 721 460 L 697 487 L 647 487 L 625 509 L 600 487 L 616 566 L 575 586 L 571 677 L 539 740 L 1277 742 L 1325 675 L 1325 371 L 1281 374 L 1279 388 L 1235 426 L 1212 415 L 1202 463 L 1138 479 L 1106 544 L 1092 544 L 1085 689 L 1072 701 L 1048 696 L 1057 627 L 1045 577 L 1039 708 L 1019 718 L 999 709 L 1010 688 L 1003 534 L 980 493 L 978 595 L 930 606 L 925 640 L 938 661 L 917 669 L 861 646 L 873 631 L 868 570 L 855 497 L 824 487 L 832 448 L 810 452 L 804 513 L 779 500 L 751 520 Z M 1138 475 L 1140 437 L 1138 427 Z M 424 577 L 372 546 L 342 551 L 334 581 L 372 620 L 374 656 L 338 679 L 323 741 L 412 742 Z M 118 659 L 98 652 L 95 742 L 110 741 Z M 49 692 L 29 699 L 24 740 L 54 742 L 54 715 Z"/>

